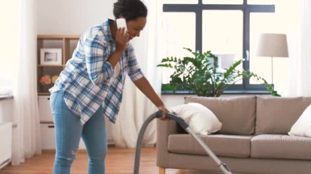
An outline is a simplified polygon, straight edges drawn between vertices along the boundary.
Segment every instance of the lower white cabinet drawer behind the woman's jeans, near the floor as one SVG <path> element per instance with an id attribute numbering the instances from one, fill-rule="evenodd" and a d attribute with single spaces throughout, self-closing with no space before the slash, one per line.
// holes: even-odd
<path id="1" fill-rule="evenodd" d="M 54 124 L 40 124 L 41 128 L 41 145 L 43 150 L 55 149 L 55 132 Z M 80 138 L 79 149 L 85 149 L 84 142 Z"/>

